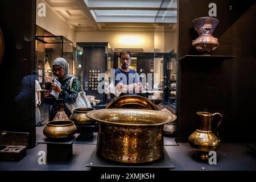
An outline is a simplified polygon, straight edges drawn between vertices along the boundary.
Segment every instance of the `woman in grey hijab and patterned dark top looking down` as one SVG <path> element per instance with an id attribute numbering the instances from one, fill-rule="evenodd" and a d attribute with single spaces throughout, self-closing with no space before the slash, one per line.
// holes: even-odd
<path id="1" fill-rule="evenodd" d="M 80 90 L 79 79 L 77 77 L 73 78 L 72 87 L 70 87 L 69 84 L 73 75 L 69 74 L 69 64 L 62 57 L 58 57 L 53 61 L 52 72 L 56 76 L 56 79 L 61 83 L 61 88 L 55 82 L 51 82 L 51 88 L 59 93 L 59 98 L 63 98 L 64 111 L 68 117 L 70 117 L 71 111 L 65 104 L 73 104 L 76 101 Z M 45 96 L 49 97 L 49 93 L 50 92 L 46 92 Z M 52 106 L 49 114 L 49 121 L 52 121 L 56 113 L 57 102 Z"/>

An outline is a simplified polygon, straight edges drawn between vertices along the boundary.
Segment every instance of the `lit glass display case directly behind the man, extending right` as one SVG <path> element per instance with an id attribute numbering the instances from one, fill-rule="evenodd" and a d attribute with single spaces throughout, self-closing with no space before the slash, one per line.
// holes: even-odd
<path id="1" fill-rule="evenodd" d="M 114 70 L 120 66 L 120 60 L 119 52 L 109 53 L 108 56 L 109 72 L 110 69 Z M 139 74 L 143 84 L 142 96 L 152 100 L 155 104 L 170 105 L 175 109 L 176 53 L 131 52 L 129 68 Z M 115 98 L 110 92 L 107 95 L 106 104 Z"/>

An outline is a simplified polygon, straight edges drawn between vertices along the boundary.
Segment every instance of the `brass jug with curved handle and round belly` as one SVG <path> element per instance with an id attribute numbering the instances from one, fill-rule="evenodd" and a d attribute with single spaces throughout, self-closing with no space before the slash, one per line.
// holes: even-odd
<path id="1" fill-rule="evenodd" d="M 197 152 L 197 158 L 209 159 L 209 151 L 216 151 L 220 145 L 218 127 L 222 122 L 220 113 L 197 112 L 198 126 L 188 138 L 189 145 Z M 212 132 L 212 121 L 215 115 L 220 115 L 221 119 L 217 124 L 217 137 Z"/>

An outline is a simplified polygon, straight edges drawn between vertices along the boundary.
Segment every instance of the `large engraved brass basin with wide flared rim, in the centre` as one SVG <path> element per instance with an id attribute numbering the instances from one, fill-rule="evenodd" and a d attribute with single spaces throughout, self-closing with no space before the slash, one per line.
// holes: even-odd
<path id="1" fill-rule="evenodd" d="M 143 163 L 163 156 L 163 125 L 176 115 L 144 109 L 100 109 L 87 113 L 98 121 L 97 154 L 123 163 Z"/>

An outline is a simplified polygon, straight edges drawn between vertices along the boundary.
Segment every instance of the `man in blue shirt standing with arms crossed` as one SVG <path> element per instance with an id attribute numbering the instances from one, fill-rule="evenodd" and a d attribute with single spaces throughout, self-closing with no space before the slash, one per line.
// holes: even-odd
<path id="1" fill-rule="evenodd" d="M 120 52 L 121 67 L 115 69 L 115 87 L 119 92 L 122 92 L 119 96 L 124 95 L 138 95 L 142 92 L 142 83 L 139 79 L 138 73 L 129 68 L 131 64 L 131 52 Z"/>

